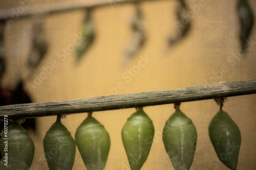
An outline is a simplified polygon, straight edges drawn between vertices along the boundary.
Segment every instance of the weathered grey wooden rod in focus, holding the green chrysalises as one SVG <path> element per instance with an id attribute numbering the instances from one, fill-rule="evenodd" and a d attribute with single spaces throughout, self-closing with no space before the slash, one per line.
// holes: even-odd
<path id="1" fill-rule="evenodd" d="M 256 93 L 256 79 L 175 90 L 109 95 L 49 103 L 1 106 L 0 117 L 3 118 L 4 115 L 8 115 L 8 117 L 12 118 L 26 118 L 72 114 L 199 101 L 253 93 Z"/>

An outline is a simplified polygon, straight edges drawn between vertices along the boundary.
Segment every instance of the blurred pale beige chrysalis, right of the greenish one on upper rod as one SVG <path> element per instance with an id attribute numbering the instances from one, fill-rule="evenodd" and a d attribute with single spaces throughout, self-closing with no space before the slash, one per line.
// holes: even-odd
<path id="1" fill-rule="evenodd" d="M 131 60 L 131 58 L 143 46 L 146 39 L 142 11 L 138 3 L 136 3 L 136 14 L 132 20 L 131 26 L 133 33 L 129 44 L 127 44 L 124 50 L 124 57 L 122 61 L 123 65 L 126 65 Z"/>

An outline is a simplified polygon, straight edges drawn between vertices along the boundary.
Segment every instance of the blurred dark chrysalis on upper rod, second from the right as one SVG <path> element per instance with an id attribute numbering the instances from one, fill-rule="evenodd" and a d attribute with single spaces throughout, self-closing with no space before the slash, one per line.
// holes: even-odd
<path id="1" fill-rule="evenodd" d="M 168 37 L 168 47 L 173 46 L 188 33 L 190 28 L 190 19 L 187 19 L 186 21 L 183 19 L 183 16 L 187 14 L 187 11 L 188 9 L 184 0 L 179 0 L 179 5 L 176 9 L 177 21 L 174 23 L 176 32 Z"/>

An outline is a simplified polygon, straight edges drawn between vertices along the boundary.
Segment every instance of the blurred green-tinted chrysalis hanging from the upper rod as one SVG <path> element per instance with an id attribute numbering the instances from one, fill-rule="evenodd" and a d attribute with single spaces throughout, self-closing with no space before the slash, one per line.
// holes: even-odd
<path id="1" fill-rule="evenodd" d="M 76 48 L 76 61 L 79 62 L 82 56 L 88 51 L 95 39 L 95 27 L 92 18 L 92 9 L 88 9 L 82 23 L 81 43 Z"/>

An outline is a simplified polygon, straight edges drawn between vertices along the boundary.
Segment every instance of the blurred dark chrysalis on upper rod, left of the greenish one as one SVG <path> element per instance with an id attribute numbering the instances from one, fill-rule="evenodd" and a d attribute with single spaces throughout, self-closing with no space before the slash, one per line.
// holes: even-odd
<path id="1" fill-rule="evenodd" d="M 32 49 L 28 58 L 30 75 L 39 63 L 45 58 L 48 50 L 48 43 L 45 36 L 42 21 L 35 21 L 32 33 Z"/>

